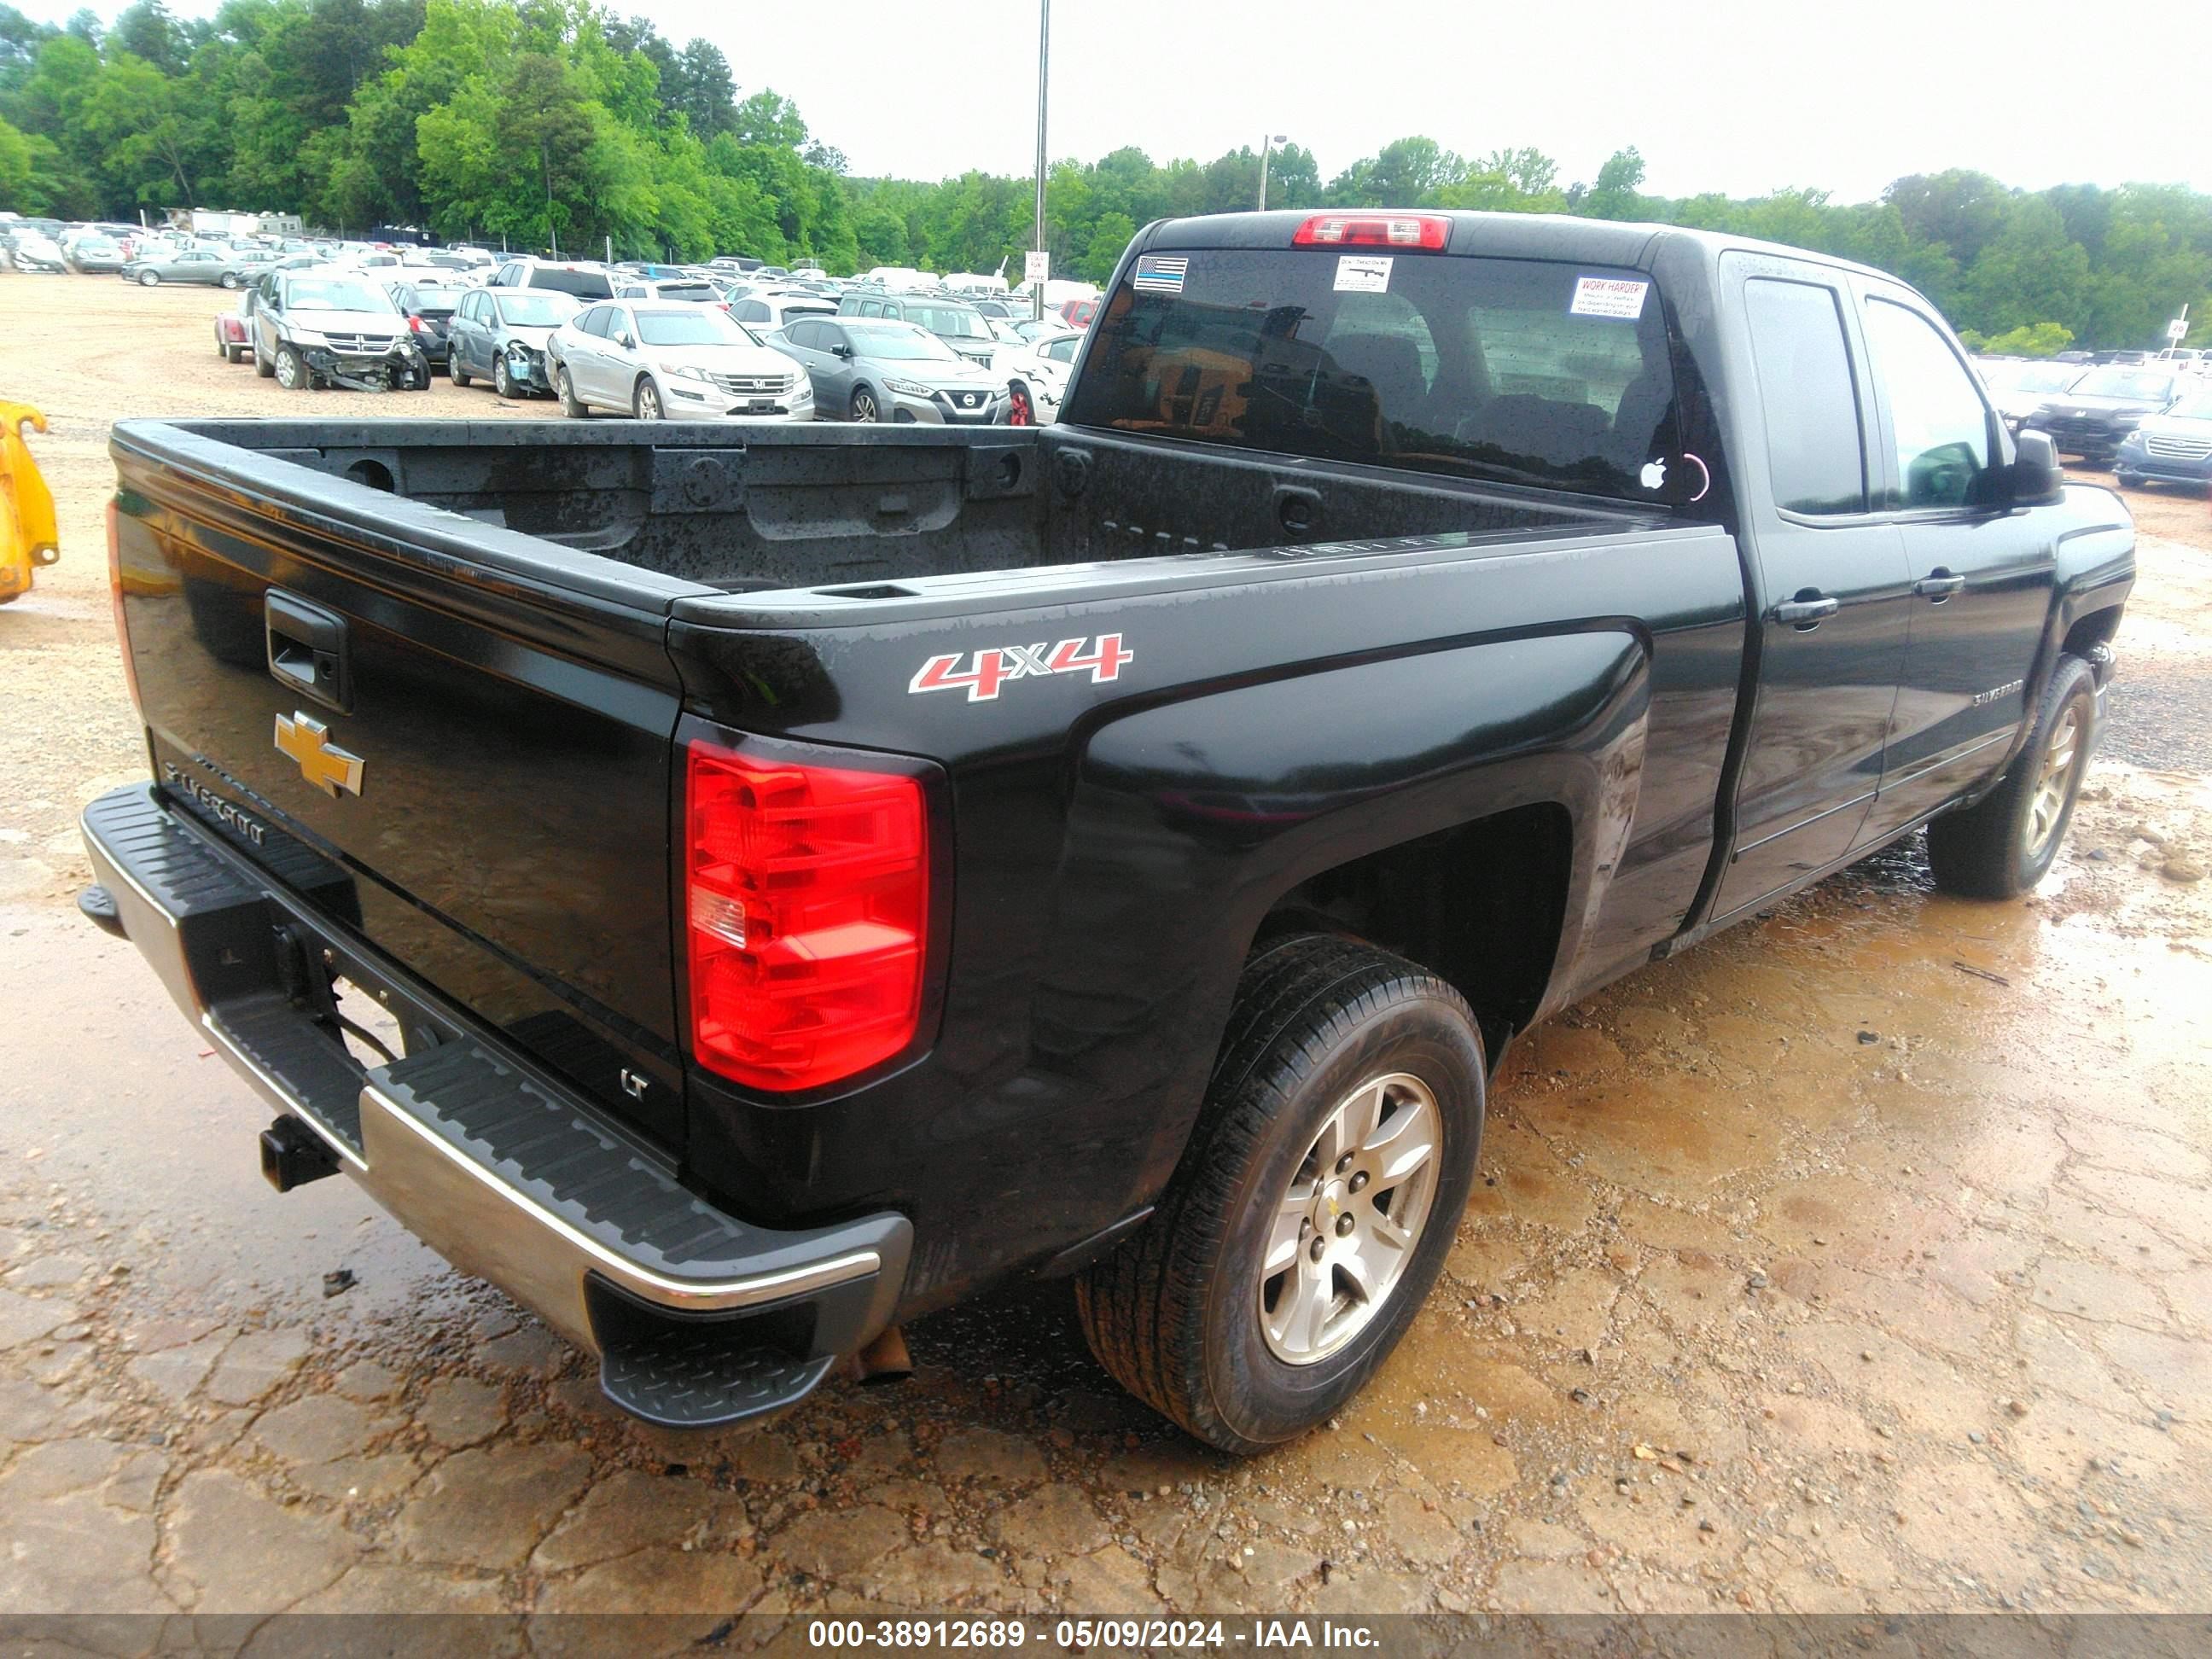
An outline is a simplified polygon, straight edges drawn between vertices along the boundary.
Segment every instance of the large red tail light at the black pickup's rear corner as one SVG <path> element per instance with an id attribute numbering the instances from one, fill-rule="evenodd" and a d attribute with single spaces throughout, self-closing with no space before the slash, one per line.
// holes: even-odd
<path id="1" fill-rule="evenodd" d="M 692 1053 L 748 1088 L 889 1060 L 922 1009 L 922 785 L 692 743 L 684 918 Z"/>

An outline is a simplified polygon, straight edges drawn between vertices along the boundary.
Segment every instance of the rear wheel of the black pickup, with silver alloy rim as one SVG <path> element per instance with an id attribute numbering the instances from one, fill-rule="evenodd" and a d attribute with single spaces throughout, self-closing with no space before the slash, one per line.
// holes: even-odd
<path id="1" fill-rule="evenodd" d="M 1099 1365 L 1223 1451 L 1327 1422 L 1451 1250 L 1484 1077 L 1425 969 L 1329 933 L 1263 947 L 1159 1210 L 1075 1285 Z"/>

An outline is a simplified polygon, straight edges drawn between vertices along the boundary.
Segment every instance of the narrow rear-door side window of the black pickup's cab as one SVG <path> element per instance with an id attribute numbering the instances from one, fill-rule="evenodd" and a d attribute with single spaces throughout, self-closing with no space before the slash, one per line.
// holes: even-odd
<path id="1" fill-rule="evenodd" d="M 1867 447 L 1834 290 L 1759 276 L 1743 285 L 1743 305 L 1774 504 L 1814 518 L 1865 513 Z"/>

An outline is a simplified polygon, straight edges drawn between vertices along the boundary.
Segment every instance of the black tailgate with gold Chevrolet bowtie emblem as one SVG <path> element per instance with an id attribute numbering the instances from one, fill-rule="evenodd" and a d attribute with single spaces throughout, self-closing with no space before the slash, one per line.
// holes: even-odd
<path id="1" fill-rule="evenodd" d="M 681 1150 L 664 588 L 690 586 L 356 482 L 392 451 L 113 449 L 170 803 Z"/>

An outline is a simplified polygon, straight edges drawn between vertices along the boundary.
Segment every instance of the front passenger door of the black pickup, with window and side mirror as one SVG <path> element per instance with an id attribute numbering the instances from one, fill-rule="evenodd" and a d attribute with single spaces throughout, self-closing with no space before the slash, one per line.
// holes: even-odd
<path id="1" fill-rule="evenodd" d="M 1860 285 L 1860 316 L 1913 582 L 1882 792 L 1863 832 L 1871 843 L 2004 759 L 2028 712 L 2057 546 L 2046 513 L 1991 504 L 2011 451 L 1949 330 L 1889 283 Z"/>

